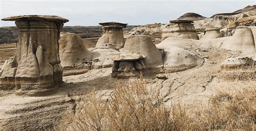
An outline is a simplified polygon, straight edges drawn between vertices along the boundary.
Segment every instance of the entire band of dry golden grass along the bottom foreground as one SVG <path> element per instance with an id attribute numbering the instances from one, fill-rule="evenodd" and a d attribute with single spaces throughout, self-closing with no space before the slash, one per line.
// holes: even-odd
<path id="1" fill-rule="evenodd" d="M 138 80 L 117 84 L 109 101 L 103 101 L 93 91 L 82 100 L 70 127 L 78 130 L 254 130 L 256 119 L 255 89 L 218 92 L 209 107 L 194 109 L 173 106 L 167 110 L 163 103 L 152 104 L 146 82 Z"/>

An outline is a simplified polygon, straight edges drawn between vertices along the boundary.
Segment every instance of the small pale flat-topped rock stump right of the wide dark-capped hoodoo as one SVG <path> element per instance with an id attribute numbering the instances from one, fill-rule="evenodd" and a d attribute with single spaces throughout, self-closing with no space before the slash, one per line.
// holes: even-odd
<path id="1" fill-rule="evenodd" d="M 221 37 L 223 37 L 223 34 L 220 33 L 220 30 L 218 28 L 207 28 L 201 40 L 215 39 L 215 38 L 221 38 Z"/>

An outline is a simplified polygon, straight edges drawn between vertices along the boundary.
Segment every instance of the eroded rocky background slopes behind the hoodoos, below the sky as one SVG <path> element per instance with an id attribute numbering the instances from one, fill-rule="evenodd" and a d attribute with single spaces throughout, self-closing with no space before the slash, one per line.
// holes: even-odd
<path id="1" fill-rule="evenodd" d="M 231 13 L 218 13 L 210 18 L 206 18 L 197 13 L 188 12 L 180 16 L 177 20 L 192 20 L 197 30 L 199 38 L 203 37 L 207 28 L 225 28 L 226 26 L 236 26 L 240 23 L 246 24 L 246 21 L 255 21 L 256 5 L 246 6 L 246 8 Z M 248 17 L 248 18 L 247 18 Z M 168 24 L 147 24 L 133 28 L 127 37 L 135 34 L 149 35 L 154 43 L 161 42 L 161 35 Z M 224 31 L 224 30 L 221 30 Z M 227 30 L 224 31 L 227 33 Z"/>

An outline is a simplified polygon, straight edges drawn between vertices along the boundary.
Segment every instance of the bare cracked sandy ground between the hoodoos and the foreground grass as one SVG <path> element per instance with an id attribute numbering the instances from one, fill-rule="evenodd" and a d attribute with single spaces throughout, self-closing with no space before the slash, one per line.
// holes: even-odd
<path id="1" fill-rule="evenodd" d="M 0 50 L 3 51 L 6 50 Z M 7 51 L 5 53 L 11 55 L 10 50 Z M 185 71 L 165 73 L 165 80 L 156 78 L 156 74 L 143 75 L 151 96 L 163 100 L 166 107 L 174 104 L 204 107 L 217 91 L 232 92 L 256 87 L 256 81 L 251 79 L 238 81 L 235 78 L 226 80 L 222 77 L 221 62 L 227 57 L 239 55 L 239 52 L 198 49 L 198 53 L 204 57 L 203 65 Z M 76 113 L 79 101 L 92 89 L 111 92 L 116 83 L 137 79 L 113 78 L 111 72 L 111 68 L 103 68 L 89 70 L 80 75 L 64 76 L 62 88 L 56 94 L 45 97 L 16 96 L 15 91 L 1 91 L 0 130 L 35 130 L 58 126 L 65 123 L 66 116 Z"/>

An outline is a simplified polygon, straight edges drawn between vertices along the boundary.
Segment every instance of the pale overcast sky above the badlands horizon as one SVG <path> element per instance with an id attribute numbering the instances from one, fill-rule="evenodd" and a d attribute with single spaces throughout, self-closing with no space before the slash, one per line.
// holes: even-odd
<path id="1" fill-rule="evenodd" d="M 69 19 L 64 26 L 93 26 L 106 21 L 145 25 L 168 23 L 187 12 L 211 17 L 255 4 L 256 0 L 0 0 L 0 17 L 54 15 Z M 15 26 L 15 23 L 1 21 L 2 26 Z"/>

